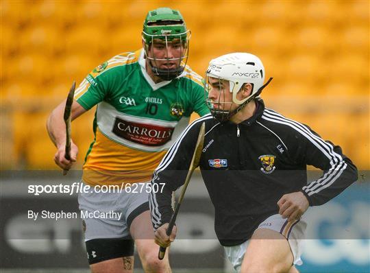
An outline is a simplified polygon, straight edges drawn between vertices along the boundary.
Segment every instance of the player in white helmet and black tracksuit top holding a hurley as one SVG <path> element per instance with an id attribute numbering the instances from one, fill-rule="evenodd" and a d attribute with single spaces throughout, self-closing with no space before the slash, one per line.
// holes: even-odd
<path id="1" fill-rule="evenodd" d="M 166 235 L 171 194 L 184 184 L 190 151 L 205 122 L 199 167 L 227 257 L 237 272 L 297 272 L 306 229 L 301 216 L 308 206 L 328 202 L 357 180 L 357 169 L 341 147 L 264 107 L 258 95 L 270 81 L 264 84 L 263 64 L 252 54 L 227 54 L 210 62 L 211 114 L 184 130 L 151 181 L 152 186 L 165 183 L 149 197 L 158 245 L 169 246 L 175 238 L 176 228 Z M 322 169 L 323 176 L 308 184 L 307 165 Z"/>

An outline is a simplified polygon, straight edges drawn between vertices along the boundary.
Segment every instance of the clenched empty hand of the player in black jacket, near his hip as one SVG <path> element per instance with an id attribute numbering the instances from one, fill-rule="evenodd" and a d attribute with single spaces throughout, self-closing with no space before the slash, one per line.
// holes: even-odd
<path id="1" fill-rule="evenodd" d="M 295 222 L 301 219 L 301 216 L 307 211 L 309 205 L 306 196 L 301 191 L 284 194 L 277 201 L 279 214 L 284 219 L 288 218 L 289 222 Z"/>

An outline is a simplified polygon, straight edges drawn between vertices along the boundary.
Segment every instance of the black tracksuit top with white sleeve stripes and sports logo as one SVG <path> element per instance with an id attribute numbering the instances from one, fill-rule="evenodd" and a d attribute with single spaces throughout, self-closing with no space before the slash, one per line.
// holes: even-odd
<path id="1" fill-rule="evenodd" d="M 341 147 L 323 141 L 308 126 L 264 108 L 262 99 L 256 104 L 254 116 L 238 125 L 219 123 L 209 114 L 184 130 L 151 180 L 166 183 L 162 192 L 149 197 L 154 228 L 171 219 L 171 193 L 184 184 L 203 122 L 206 136 L 199 168 L 223 246 L 249 239 L 264 219 L 278 213 L 277 201 L 286 193 L 302 191 L 310 206 L 317 206 L 357 180 L 356 166 Z M 323 176 L 308 184 L 307 165 L 322 169 Z"/>

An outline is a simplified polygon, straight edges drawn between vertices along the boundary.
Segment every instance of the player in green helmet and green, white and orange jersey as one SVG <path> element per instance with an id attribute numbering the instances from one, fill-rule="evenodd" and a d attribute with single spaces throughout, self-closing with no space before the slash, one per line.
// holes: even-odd
<path id="1" fill-rule="evenodd" d="M 142 50 L 104 62 L 75 92 L 72 120 L 97 105 L 95 139 L 86 154 L 82 177 L 82 183 L 92 188 L 120 180 L 150 186 L 147 182 L 153 169 L 180 131 L 180 119 L 186 120 L 191 112 L 200 116 L 209 112 L 201 77 L 186 65 L 190 31 L 180 12 L 170 8 L 150 11 L 142 39 Z M 78 149 L 71 141 L 71 160 L 65 158 L 64 106 L 65 101 L 51 112 L 47 130 L 57 147 L 54 161 L 68 170 Z M 122 213 L 119 219 L 84 219 L 92 272 L 132 272 L 134 242 L 145 272 L 171 272 L 168 257 L 158 260 L 148 187 L 136 189 L 136 193 L 79 193 L 84 215 Z"/>

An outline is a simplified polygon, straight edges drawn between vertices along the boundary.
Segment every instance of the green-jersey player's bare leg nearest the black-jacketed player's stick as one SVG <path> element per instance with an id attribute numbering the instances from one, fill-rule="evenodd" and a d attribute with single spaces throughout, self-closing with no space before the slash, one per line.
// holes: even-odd
<path id="1" fill-rule="evenodd" d="M 138 215 L 130 226 L 136 250 L 146 273 L 171 273 L 168 254 L 158 259 L 158 245 L 154 242 L 154 232 L 149 211 Z"/>

